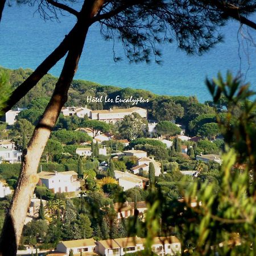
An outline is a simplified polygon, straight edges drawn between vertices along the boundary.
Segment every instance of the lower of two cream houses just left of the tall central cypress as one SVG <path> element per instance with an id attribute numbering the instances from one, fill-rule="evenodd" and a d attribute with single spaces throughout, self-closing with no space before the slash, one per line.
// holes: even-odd
<path id="1" fill-rule="evenodd" d="M 118 184 L 123 188 L 124 191 L 135 187 L 144 188 L 149 180 L 145 177 L 121 171 L 114 171 L 114 177 L 118 180 Z"/>

